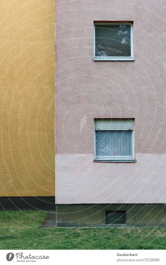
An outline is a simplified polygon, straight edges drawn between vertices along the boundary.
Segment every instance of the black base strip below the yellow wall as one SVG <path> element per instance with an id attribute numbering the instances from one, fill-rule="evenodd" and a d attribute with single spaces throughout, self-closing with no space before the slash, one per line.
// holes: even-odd
<path id="1" fill-rule="evenodd" d="M 55 210 L 55 197 L 0 197 L 0 211 Z"/>

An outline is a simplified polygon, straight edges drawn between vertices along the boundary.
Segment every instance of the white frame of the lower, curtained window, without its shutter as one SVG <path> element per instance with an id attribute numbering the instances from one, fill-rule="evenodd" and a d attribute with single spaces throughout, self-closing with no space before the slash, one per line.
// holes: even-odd
<path id="1" fill-rule="evenodd" d="M 133 120 L 134 122 L 134 120 Z M 134 124 L 135 128 L 135 124 Z M 125 130 L 125 129 L 124 129 Z M 94 161 L 102 161 L 102 162 L 133 162 L 135 161 L 135 140 L 134 140 L 134 130 L 132 130 L 132 155 L 131 156 L 96 156 L 96 131 L 95 130 L 95 123 L 94 123 Z M 115 130 L 117 131 L 117 130 Z"/>

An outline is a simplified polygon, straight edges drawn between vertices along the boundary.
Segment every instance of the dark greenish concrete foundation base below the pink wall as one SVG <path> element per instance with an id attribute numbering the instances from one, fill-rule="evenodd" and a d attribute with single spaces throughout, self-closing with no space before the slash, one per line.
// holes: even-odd
<path id="1" fill-rule="evenodd" d="M 121 214 L 122 212 L 125 214 L 125 218 L 118 219 L 118 214 Z M 111 221 L 114 220 L 114 222 L 111 223 L 110 220 Z M 120 220 L 120 222 L 118 220 Z M 57 226 L 59 227 L 72 227 L 72 226 L 166 227 L 166 205 L 165 204 L 56 204 L 56 223 Z"/>

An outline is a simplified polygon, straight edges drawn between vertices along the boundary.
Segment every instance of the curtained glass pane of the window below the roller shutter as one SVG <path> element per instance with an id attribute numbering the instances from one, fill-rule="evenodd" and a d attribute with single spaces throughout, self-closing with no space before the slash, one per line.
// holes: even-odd
<path id="1" fill-rule="evenodd" d="M 96 156 L 132 156 L 132 131 L 99 130 L 96 132 Z"/>

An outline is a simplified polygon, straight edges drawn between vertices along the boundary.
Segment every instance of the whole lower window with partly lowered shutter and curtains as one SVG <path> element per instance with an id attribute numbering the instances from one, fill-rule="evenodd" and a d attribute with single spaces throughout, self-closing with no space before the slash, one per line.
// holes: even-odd
<path id="1" fill-rule="evenodd" d="M 95 119 L 94 160 L 134 160 L 134 120 Z"/>

